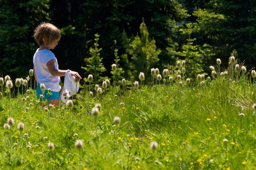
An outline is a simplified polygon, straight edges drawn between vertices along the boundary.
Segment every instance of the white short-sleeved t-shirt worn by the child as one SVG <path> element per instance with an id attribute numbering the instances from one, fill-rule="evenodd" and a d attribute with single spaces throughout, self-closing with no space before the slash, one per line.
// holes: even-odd
<path id="1" fill-rule="evenodd" d="M 38 48 L 39 49 L 39 48 Z M 52 76 L 46 63 L 51 59 L 54 59 L 55 69 L 59 69 L 58 61 L 52 51 L 48 49 L 36 50 L 36 53 L 33 57 L 34 68 L 36 71 L 36 76 L 38 78 L 38 83 L 46 86 L 47 89 L 51 91 L 60 91 L 60 77 Z"/>

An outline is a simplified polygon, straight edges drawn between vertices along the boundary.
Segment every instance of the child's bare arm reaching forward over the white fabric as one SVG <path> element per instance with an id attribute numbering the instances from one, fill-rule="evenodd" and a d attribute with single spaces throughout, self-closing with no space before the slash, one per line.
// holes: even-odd
<path id="1" fill-rule="evenodd" d="M 50 71 L 51 75 L 53 75 L 53 76 L 65 76 L 66 70 L 55 69 L 54 59 L 51 59 L 50 61 L 48 61 L 48 63 L 46 65 L 47 65 L 48 70 Z M 70 74 L 74 75 L 75 77 L 77 77 L 79 79 L 82 79 L 82 77 L 75 71 L 70 71 Z"/>

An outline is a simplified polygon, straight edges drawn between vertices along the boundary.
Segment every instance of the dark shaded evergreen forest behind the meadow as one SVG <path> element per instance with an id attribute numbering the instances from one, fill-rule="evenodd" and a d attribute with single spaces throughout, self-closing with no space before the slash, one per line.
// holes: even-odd
<path id="1" fill-rule="evenodd" d="M 247 70 L 256 63 L 255 0 L 0 0 L 0 77 L 28 75 L 41 22 L 61 30 L 52 50 L 59 69 L 82 77 L 89 74 L 82 67 L 90 67 L 95 34 L 105 77 L 117 61 L 123 77 L 148 74 L 150 67 L 174 70 L 180 59 L 190 76 L 210 73 L 217 58 L 228 64 L 231 55 Z M 146 63 L 138 65 L 139 58 Z"/>

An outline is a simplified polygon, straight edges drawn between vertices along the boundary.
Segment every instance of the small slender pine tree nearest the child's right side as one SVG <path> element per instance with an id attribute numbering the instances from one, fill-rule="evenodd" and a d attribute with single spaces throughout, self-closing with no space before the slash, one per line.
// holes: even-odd
<path id="1" fill-rule="evenodd" d="M 92 57 L 86 58 L 86 67 L 82 67 L 82 69 L 85 69 L 88 71 L 88 73 L 93 75 L 93 82 L 98 83 L 104 79 L 102 76 L 102 73 L 106 71 L 106 68 L 102 64 L 102 58 L 100 57 L 100 51 L 102 48 L 98 48 L 98 40 L 100 35 L 99 34 L 94 34 L 95 36 L 95 42 L 94 42 L 94 47 L 90 47 L 90 55 Z M 86 80 L 85 80 L 86 81 Z"/>

